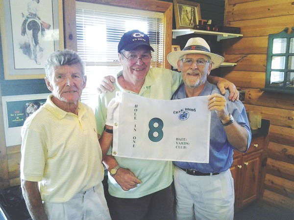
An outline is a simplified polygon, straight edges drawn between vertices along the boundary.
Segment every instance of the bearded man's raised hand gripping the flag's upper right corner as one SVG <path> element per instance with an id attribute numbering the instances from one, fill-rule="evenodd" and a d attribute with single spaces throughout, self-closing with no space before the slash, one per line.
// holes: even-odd
<path id="1" fill-rule="evenodd" d="M 230 120 L 225 97 L 221 94 L 216 93 L 208 96 L 208 110 L 215 110 L 223 122 Z"/>

